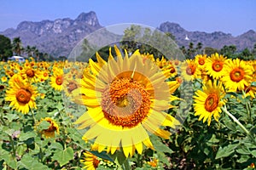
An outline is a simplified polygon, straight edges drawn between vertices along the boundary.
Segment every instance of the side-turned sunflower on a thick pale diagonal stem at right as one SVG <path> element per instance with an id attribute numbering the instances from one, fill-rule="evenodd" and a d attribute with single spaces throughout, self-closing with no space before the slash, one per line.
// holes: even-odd
<path id="1" fill-rule="evenodd" d="M 210 126 L 212 116 L 218 122 L 221 106 L 224 105 L 224 88 L 221 82 L 208 81 L 202 89 L 195 92 L 195 116 L 200 116 L 199 121 L 203 118 L 203 122 L 207 121 Z"/>

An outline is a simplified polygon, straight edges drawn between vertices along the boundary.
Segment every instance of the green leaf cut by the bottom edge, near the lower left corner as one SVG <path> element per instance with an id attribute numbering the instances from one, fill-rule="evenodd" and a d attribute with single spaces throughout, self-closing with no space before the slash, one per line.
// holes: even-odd
<path id="1" fill-rule="evenodd" d="M 41 169 L 49 169 L 47 166 L 40 163 L 36 158 L 25 155 L 21 158 L 18 162 L 19 167 L 24 167 L 26 169 L 34 169 L 34 170 L 41 170 Z"/>

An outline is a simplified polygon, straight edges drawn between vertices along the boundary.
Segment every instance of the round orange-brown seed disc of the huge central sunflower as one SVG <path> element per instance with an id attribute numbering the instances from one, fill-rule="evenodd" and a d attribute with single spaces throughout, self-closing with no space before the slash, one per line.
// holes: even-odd
<path id="1" fill-rule="evenodd" d="M 150 95 L 144 86 L 131 78 L 113 80 L 102 93 L 102 111 L 113 125 L 135 127 L 148 115 Z"/>

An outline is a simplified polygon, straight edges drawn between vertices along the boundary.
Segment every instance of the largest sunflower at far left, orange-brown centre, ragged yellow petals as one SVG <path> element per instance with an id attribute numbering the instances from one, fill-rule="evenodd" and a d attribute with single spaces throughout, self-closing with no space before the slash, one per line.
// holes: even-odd
<path id="1" fill-rule="evenodd" d="M 11 102 L 10 106 L 13 106 L 13 109 L 26 114 L 29 109 L 37 108 L 35 103 L 38 95 L 37 88 L 21 79 L 14 79 L 9 84 L 11 88 L 6 91 L 5 100 Z"/>

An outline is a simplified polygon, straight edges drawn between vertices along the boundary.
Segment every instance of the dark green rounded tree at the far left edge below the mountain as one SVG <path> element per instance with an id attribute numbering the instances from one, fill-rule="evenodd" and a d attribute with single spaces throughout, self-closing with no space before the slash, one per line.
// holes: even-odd
<path id="1" fill-rule="evenodd" d="M 0 60 L 7 60 L 8 57 L 12 56 L 12 45 L 9 37 L 0 35 Z"/>

